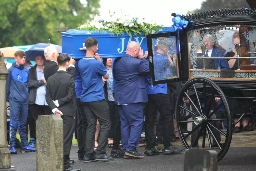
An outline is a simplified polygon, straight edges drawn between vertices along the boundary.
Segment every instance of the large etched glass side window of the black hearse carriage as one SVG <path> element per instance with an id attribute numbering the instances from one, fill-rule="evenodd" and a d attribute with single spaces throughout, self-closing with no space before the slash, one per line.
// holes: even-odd
<path id="1" fill-rule="evenodd" d="M 256 80 L 256 26 L 213 26 L 187 36 L 190 78 Z"/>

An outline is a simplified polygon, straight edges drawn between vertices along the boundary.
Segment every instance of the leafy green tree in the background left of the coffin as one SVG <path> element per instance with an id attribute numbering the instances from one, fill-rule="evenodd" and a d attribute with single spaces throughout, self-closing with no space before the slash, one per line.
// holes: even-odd
<path id="1" fill-rule="evenodd" d="M 47 43 L 58 44 L 56 27 L 70 29 L 98 13 L 99 0 L 0 0 L 0 47 Z M 91 15 L 90 15 L 91 14 Z"/>

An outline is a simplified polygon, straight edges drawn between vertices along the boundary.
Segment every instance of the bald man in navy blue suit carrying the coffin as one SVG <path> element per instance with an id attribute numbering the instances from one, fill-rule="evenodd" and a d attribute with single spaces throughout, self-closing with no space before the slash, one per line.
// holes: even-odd
<path id="1" fill-rule="evenodd" d="M 148 101 L 146 74 L 149 64 L 146 58 L 140 45 L 132 41 L 127 45 L 125 56 L 114 61 L 115 103 L 120 114 L 124 158 L 144 158 L 136 147 L 143 126 L 143 103 Z"/>

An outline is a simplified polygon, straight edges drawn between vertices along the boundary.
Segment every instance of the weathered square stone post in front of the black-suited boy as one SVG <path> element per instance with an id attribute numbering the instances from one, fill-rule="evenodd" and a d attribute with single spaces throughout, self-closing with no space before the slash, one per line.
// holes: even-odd
<path id="1" fill-rule="evenodd" d="M 42 115 L 36 120 L 36 170 L 63 171 L 63 120 Z"/>

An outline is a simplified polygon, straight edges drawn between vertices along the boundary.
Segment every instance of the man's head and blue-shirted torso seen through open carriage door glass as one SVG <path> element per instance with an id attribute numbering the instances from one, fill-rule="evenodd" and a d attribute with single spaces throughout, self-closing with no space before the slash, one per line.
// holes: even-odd
<path id="1" fill-rule="evenodd" d="M 171 42 L 167 38 L 159 40 L 157 50 L 153 55 L 155 80 L 165 80 L 167 78 L 167 68 L 173 66 L 168 53 L 170 47 Z"/>

